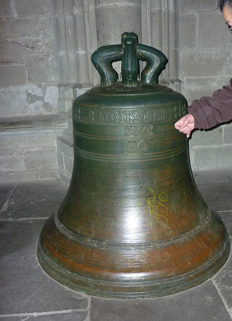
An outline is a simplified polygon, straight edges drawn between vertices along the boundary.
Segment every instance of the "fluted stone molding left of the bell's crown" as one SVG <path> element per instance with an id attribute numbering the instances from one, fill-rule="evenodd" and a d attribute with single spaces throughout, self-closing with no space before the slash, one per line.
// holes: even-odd
<path id="1" fill-rule="evenodd" d="M 59 108 L 72 107 L 73 90 L 89 88 L 98 82 L 91 63 L 97 48 L 94 0 L 53 0 L 57 65 L 59 74 Z"/>

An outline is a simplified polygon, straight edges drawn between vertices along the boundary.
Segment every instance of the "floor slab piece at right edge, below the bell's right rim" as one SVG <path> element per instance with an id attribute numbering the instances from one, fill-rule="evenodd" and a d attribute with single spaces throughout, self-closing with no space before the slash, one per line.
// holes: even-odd
<path id="1" fill-rule="evenodd" d="M 219 272 L 212 277 L 218 292 L 228 309 L 232 309 L 232 252 Z"/>

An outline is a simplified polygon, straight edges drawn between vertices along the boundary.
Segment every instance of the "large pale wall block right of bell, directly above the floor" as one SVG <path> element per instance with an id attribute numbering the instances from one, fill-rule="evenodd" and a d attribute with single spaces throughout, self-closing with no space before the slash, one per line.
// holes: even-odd
<path id="1" fill-rule="evenodd" d="M 193 171 L 231 168 L 232 146 L 190 148 L 190 164 Z"/>

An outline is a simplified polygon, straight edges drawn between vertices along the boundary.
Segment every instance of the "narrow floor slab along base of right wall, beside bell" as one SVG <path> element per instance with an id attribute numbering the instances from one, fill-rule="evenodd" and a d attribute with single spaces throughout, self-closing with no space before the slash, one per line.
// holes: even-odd
<path id="1" fill-rule="evenodd" d="M 232 182 L 232 176 L 226 171 L 199 171 L 192 174 L 196 184 Z"/>

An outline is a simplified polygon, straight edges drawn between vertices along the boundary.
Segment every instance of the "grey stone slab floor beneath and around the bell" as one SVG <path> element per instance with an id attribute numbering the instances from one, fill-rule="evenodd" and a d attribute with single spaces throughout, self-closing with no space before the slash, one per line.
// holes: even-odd
<path id="1" fill-rule="evenodd" d="M 232 171 L 194 173 L 203 198 L 232 237 Z M 106 299 L 71 290 L 40 267 L 36 246 L 68 186 L 61 181 L 0 184 L 0 321 L 227 321 L 232 255 L 210 280 L 158 298 Z"/>

